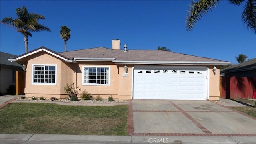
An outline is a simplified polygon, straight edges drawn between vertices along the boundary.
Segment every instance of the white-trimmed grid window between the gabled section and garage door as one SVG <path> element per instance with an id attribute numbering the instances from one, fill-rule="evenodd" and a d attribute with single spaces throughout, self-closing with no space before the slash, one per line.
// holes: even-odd
<path id="1" fill-rule="evenodd" d="M 110 85 L 110 67 L 83 67 L 83 85 Z"/>

